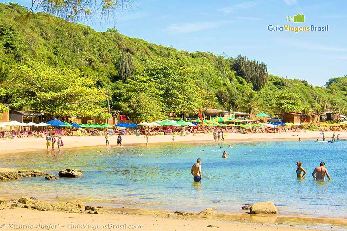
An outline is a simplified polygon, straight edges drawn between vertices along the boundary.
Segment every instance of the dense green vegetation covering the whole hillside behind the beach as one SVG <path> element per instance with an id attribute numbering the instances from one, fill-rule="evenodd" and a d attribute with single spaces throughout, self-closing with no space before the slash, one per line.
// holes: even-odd
<path id="1" fill-rule="evenodd" d="M 26 14 L 0 4 L 0 63 L 8 69 L 0 95 L 11 109 L 107 117 L 110 106 L 150 121 L 204 107 L 270 115 L 322 104 L 339 113 L 347 108 L 347 77 L 314 87 L 268 74 L 264 62 L 242 55 L 177 51 L 44 13 L 24 24 Z"/>

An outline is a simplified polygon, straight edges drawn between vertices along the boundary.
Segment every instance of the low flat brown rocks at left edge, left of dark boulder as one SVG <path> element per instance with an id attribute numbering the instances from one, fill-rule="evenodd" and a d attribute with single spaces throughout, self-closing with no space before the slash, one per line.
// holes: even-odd
<path id="1" fill-rule="evenodd" d="M 0 168 L 0 180 L 18 180 L 25 177 L 45 177 L 48 173 L 38 170 L 17 170 L 14 168 Z"/>

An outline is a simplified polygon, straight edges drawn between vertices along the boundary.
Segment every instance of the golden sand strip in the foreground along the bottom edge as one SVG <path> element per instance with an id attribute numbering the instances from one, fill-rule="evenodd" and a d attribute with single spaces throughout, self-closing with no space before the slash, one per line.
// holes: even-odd
<path id="1" fill-rule="evenodd" d="M 2 230 L 340 230 L 346 221 L 342 219 L 310 219 L 274 215 L 213 214 L 182 216 L 172 211 L 137 210 L 118 208 L 102 214 L 78 214 L 35 211 L 27 208 L 5 208 L 0 211 Z M 27 225 L 27 226 L 24 226 Z M 97 228 L 105 225 L 108 228 Z M 211 225 L 212 227 L 208 227 Z M 323 225 L 323 226 L 318 226 Z M 126 228 L 123 228 L 126 226 Z M 129 227 L 130 226 L 130 227 Z M 118 228 L 117 228 L 118 227 Z"/>

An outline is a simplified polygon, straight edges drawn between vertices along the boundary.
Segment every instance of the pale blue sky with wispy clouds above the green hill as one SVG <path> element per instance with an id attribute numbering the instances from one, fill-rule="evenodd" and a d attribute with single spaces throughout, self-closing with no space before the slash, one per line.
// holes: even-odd
<path id="1" fill-rule="evenodd" d="M 29 6 L 31 1 L 18 3 Z M 323 86 L 328 79 L 347 74 L 346 7 L 347 1 L 342 0 L 139 0 L 132 9 L 117 13 L 116 22 L 103 22 L 97 15 L 87 24 L 97 31 L 115 28 L 177 50 L 227 57 L 241 53 L 250 60 L 264 61 L 268 73 Z M 286 20 L 298 14 L 305 16 L 303 23 Z M 329 30 L 269 31 L 269 25 L 329 25 Z"/>

